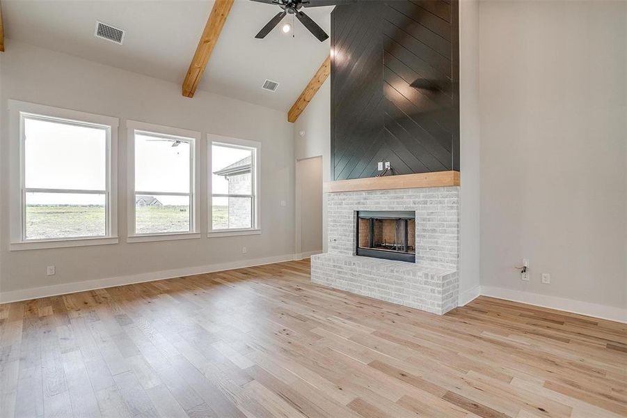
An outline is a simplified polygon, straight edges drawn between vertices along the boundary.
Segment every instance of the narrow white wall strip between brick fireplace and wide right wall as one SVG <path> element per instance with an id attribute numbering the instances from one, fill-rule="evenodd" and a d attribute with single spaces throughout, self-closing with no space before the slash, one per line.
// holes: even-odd
<path id="1" fill-rule="evenodd" d="M 479 295 L 479 1 L 459 3 L 459 303 Z"/>

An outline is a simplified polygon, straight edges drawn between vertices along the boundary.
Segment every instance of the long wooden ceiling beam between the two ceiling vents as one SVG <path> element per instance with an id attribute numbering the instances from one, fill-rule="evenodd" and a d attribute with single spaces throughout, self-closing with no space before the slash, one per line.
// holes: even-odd
<path id="1" fill-rule="evenodd" d="M 203 77 L 203 72 L 205 72 L 209 57 L 216 46 L 216 42 L 218 42 L 224 22 L 226 22 L 233 6 L 233 1 L 235 0 L 216 0 L 214 3 L 203 36 L 200 37 L 196 53 L 193 54 L 189 70 L 187 70 L 187 75 L 183 81 L 183 95 L 187 98 L 192 98 L 193 93 L 196 93 L 200 78 Z"/>

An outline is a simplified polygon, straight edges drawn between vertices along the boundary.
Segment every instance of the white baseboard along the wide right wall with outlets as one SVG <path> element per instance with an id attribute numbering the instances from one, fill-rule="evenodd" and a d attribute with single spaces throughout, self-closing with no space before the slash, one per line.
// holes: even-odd
<path id="1" fill-rule="evenodd" d="M 602 304 L 565 299 L 564 297 L 541 295 L 539 293 L 514 291 L 512 289 L 495 286 L 481 286 L 481 295 L 498 297 L 499 299 L 511 300 L 513 302 L 523 302 L 537 307 L 558 309 L 559 311 L 572 312 L 573 314 L 594 316 L 595 318 L 627 323 L 627 309 L 619 307 L 609 307 Z"/>

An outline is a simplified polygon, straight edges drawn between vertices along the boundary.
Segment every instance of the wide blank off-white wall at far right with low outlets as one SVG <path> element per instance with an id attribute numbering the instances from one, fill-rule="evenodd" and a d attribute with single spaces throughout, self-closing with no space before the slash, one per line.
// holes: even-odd
<path id="1" fill-rule="evenodd" d="M 626 8 L 480 2 L 485 293 L 626 308 Z"/>

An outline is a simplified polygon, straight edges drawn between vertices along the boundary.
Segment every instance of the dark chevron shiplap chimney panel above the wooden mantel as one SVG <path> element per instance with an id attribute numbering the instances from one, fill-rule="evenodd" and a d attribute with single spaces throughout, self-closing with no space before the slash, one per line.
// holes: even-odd
<path id="1" fill-rule="evenodd" d="M 360 1 L 331 14 L 333 180 L 459 170 L 457 0 Z"/>

